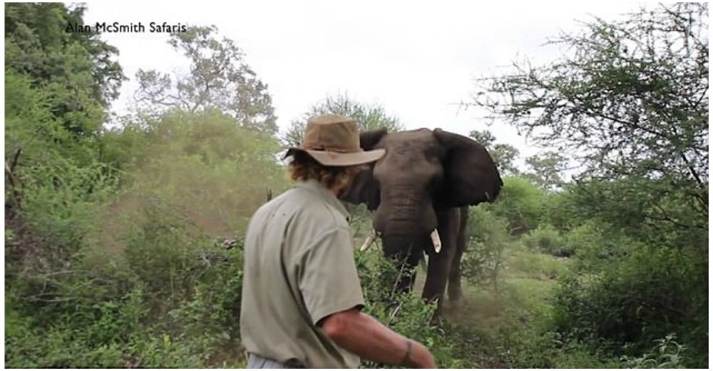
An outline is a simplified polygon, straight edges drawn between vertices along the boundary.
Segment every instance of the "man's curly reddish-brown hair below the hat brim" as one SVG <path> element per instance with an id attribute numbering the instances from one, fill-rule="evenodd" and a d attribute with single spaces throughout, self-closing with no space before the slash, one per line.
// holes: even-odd
<path id="1" fill-rule="evenodd" d="M 342 187 L 347 185 L 352 181 L 358 169 L 359 166 L 324 166 L 302 151 L 293 153 L 288 168 L 289 177 L 293 181 L 314 179 L 326 188 L 332 188 L 334 185 Z"/>

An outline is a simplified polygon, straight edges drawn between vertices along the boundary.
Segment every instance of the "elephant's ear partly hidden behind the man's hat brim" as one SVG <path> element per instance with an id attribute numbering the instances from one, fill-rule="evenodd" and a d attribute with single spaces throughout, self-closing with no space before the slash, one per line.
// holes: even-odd
<path id="1" fill-rule="evenodd" d="M 386 129 L 364 131 L 359 134 L 359 145 L 364 151 L 374 149 L 381 138 L 386 136 Z M 349 203 L 366 203 L 366 208 L 375 210 L 379 206 L 379 185 L 374 181 L 374 163 L 365 165 L 356 174 L 354 181 L 347 187 L 339 198 Z"/>

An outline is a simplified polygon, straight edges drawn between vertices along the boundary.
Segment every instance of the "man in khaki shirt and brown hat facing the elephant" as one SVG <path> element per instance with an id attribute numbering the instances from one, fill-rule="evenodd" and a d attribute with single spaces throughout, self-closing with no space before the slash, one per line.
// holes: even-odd
<path id="1" fill-rule="evenodd" d="M 347 210 L 337 196 L 359 166 L 384 156 L 363 151 L 359 128 L 337 115 L 310 119 L 290 148 L 297 185 L 262 205 L 245 236 L 240 332 L 248 368 L 342 368 L 359 357 L 436 368 L 424 345 L 362 313 Z"/>

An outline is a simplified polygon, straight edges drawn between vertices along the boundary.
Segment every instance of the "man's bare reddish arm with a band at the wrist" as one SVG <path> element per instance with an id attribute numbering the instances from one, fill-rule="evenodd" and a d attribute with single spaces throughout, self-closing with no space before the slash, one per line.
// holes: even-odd
<path id="1" fill-rule="evenodd" d="M 410 368 L 436 368 L 434 356 L 424 345 L 389 330 L 359 310 L 334 313 L 321 320 L 319 325 L 337 345 L 366 360 Z M 411 352 L 406 357 L 409 341 Z"/>

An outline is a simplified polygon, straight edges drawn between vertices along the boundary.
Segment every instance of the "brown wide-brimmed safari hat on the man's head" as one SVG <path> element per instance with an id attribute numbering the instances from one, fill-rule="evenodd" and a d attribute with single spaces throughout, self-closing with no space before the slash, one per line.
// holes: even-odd
<path id="1" fill-rule="evenodd" d="M 304 151 L 324 166 L 354 166 L 374 162 L 383 149 L 364 151 L 359 146 L 359 126 L 353 118 L 322 115 L 310 118 L 304 128 L 302 146 L 287 150 L 284 157 Z"/>

